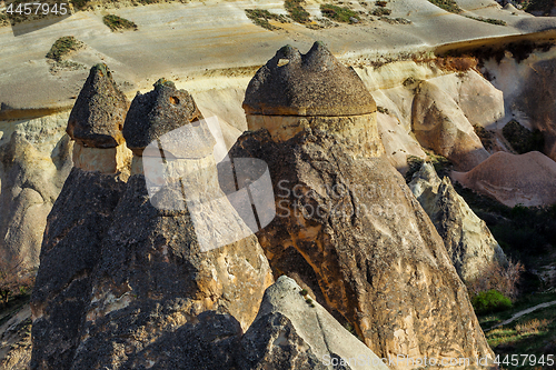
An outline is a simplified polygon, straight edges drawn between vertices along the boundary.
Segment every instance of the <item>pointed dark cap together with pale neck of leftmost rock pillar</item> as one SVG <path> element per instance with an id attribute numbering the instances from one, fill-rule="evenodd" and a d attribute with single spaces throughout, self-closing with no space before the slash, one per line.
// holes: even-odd
<path id="1" fill-rule="evenodd" d="M 73 109 L 67 132 L 73 143 L 73 166 L 87 171 L 117 173 L 129 167 L 131 153 L 121 129 L 129 103 L 106 64 L 91 68 Z"/>

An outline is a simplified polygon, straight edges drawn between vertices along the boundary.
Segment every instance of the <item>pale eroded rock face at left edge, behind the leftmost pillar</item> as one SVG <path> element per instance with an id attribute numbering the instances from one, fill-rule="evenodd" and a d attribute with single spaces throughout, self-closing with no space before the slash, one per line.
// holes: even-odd
<path id="1" fill-rule="evenodd" d="M 71 170 L 68 114 L 1 122 L 0 257 L 39 264 L 42 233 Z"/>

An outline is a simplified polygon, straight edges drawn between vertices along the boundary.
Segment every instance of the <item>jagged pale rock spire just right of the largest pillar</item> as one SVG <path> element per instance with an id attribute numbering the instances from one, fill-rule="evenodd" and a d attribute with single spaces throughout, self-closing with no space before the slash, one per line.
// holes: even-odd
<path id="1" fill-rule="evenodd" d="M 464 282 L 479 277 L 493 262 L 507 263 L 485 221 L 471 211 L 448 178 L 438 178 L 430 163 L 423 163 L 409 188 L 443 238 Z"/>

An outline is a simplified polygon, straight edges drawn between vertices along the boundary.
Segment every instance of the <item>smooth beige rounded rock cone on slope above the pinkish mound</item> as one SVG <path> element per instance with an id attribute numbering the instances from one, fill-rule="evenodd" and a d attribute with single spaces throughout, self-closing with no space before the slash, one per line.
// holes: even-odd
<path id="1" fill-rule="evenodd" d="M 413 132 L 419 143 L 468 171 L 488 158 L 464 111 L 443 89 L 420 82 L 413 103 Z"/>

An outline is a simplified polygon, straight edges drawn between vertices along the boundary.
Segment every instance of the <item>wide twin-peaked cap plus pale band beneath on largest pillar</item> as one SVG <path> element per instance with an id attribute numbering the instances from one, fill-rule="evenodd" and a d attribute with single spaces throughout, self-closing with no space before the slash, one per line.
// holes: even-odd
<path id="1" fill-rule="evenodd" d="M 244 101 L 249 130 L 286 141 L 306 129 L 334 132 L 355 156 L 378 157 L 377 106 L 361 79 L 321 42 L 301 54 L 286 46 L 249 82 Z"/>

